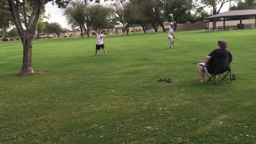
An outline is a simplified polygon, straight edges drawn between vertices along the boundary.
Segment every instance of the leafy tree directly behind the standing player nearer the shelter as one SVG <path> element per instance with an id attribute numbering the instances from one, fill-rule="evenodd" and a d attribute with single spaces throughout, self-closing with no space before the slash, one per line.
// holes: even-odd
<path id="1" fill-rule="evenodd" d="M 178 23 L 188 21 L 190 11 L 194 9 L 192 0 L 166 0 L 164 4 L 165 18 L 174 24 L 175 30 Z"/>

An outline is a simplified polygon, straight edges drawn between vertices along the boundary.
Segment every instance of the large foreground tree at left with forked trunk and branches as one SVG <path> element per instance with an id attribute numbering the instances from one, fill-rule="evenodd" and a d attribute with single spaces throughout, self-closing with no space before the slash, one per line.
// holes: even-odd
<path id="1" fill-rule="evenodd" d="M 70 0 L 0 0 L 0 9 L 9 11 L 13 22 L 21 37 L 23 45 L 23 60 L 19 75 L 27 76 L 34 74 L 32 68 L 32 46 L 36 34 L 39 16 L 48 2 L 65 7 Z M 24 27 L 23 27 L 24 26 Z"/>

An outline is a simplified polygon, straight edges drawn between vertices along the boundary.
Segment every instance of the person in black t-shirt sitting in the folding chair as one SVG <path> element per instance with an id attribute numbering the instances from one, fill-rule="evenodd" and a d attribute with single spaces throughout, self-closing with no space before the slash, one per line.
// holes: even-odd
<path id="1" fill-rule="evenodd" d="M 213 63 L 214 59 L 221 56 L 221 55 L 227 55 L 229 53 L 229 61 L 232 61 L 232 55 L 230 52 L 228 52 L 227 49 L 227 43 L 225 41 L 218 41 L 218 49 L 212 51 L 210 54 L 208 54 L 205 57 L 205 61 L 197 64 L 198 73 L 202 77 L 202 80 L 199 82 L 207 82 L 205 78 L 204 70 L 208 73 L 213 73 L 213 68 L 211 67 L 211 63 Z M 217 80 L 217 75 L 214 75 L 214 80 Z"/>

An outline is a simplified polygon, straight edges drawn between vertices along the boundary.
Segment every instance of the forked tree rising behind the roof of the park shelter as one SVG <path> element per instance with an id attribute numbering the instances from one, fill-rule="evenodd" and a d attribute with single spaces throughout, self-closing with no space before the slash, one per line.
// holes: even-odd
<path id="1" fill-rule="evenodd" d="M 223 7 L 223 5 L 227 2 L 231 2 L 231 1 L 235 1 L 235 0 L 201 0 L 201 3 L 203 5 L 212 7 L 212 14 L 218 14 L 220 13 L 221 8 Z M 220 7 L 218 9 L 217 5 L 220 4 Z M 213 27 L 216 27 L 216 21 L 217 19 L 213 19 Z"/>

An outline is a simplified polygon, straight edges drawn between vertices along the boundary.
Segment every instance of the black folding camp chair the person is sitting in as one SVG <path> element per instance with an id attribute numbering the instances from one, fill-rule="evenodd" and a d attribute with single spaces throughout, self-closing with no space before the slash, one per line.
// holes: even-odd
<path id="1" fill-rule="evenodd" d="M 211 66 L 211 69 L 213 70 L 212 73 L 207 73 L 204 70 L 207 77 L 209 78 L 207 83 L 210 81 L 212 84 L 215 85 L 215 82 L 217 81 L 215 76 L 218 76 L 220 81 L 218 80 L 217 85 L 222 81 L 225 81 L 227 84 L 231 84 L 230 62 L 232 61 L 232 59 L 230 57 L 231 57 L 230 52 L 227 52 L 227 54 L 225 55 L 218 55 L 218 57 L 215 57 L 214 60 L 211 61 L 210 66 Z M 230 82 L 227 79 L 228 74 L 230 77 Z"/>

